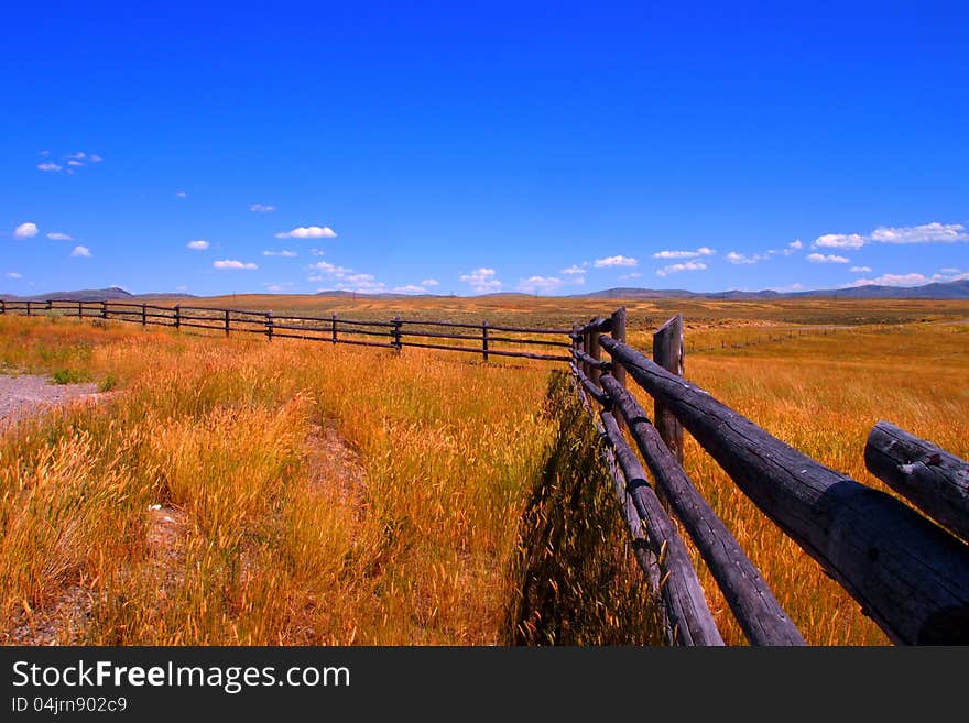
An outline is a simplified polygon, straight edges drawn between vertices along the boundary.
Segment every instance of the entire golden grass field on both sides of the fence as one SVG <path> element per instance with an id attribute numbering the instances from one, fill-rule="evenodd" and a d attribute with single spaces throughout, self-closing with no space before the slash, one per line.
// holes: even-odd
<path id="1" fill-rule="evenodd" d="M 521 297 L 198 303 L 540 326 L 570 326 L 618 305 Z M 969 303 L 627 306 L 630 341 L 641 349 L 651 326 L 682 311 L 690 380 L 859 481 L 883 489 L 862 460 L 879 419 L 969 457 Z M 529 539 L 522 524 L 562 443 L 555 417 L 543 413 L 551 364 L 7 316 L 0 365 L 116 392 L 0 436 L 8 643 L 464 645 L 514 637 L 509 610 L 521 593 L 516 560 Z M 645 394 L 641 401 L 652 408 Z M 886 642 L 690 439 L 685 465 L 809 643 Z M 597 528 L 602 539 L 616 534 L 607 527 Z M 586 563 L 611 574 L 632 569 Z M 742 644 L 705 581 L 728 640 Z M 634 594 L 586 593 L 587 602 L 622 604 L 597 618 L 605 632 L 573 639 L 636 638 L 643 615 L 633 611 Z"/>

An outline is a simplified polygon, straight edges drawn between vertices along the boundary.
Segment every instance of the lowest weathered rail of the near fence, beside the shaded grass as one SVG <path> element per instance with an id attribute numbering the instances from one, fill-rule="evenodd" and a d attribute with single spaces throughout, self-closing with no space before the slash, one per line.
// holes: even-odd
<path id="1" fill-rule="evenodd" d="M 639 458 L 625 443 L 612 414 L 603 410 L 599 418 L 625 478 L 625 491 L 645 525 L 645 543 L 660 562 L 660 594 L 673 626 L 674 644 L 723 645 L 689 552 L 646 481 Z"/>

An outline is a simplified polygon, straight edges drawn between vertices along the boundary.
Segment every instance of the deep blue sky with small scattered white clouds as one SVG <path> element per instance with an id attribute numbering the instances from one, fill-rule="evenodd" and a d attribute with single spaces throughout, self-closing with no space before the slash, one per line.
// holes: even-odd
<path id="1" fill-rule="evenodd" d="M 34 3 L 0 291 L 969 275 L 965 3 Z"/>

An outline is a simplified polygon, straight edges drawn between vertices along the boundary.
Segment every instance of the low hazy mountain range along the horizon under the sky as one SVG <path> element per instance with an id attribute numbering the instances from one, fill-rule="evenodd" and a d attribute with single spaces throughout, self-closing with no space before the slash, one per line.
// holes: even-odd
<path id="1" fill-rule="evenodd" d="M 279 296 L 279 294 L 273 294 Z M 302 296 L 302 294 L 300 295 Z M 447 296 L 443 294 L 367 294 L 362 292 L 349 292 L 342 289 L 334 289 L 326 292 L 317 292 L 314 296 L 337 296 L 337 297 L 369 297 L 369 298 L 421 298 L 421 297 L 440 297 Z M 523 294 L 518 292 L 499 292 L 494 294 L 482 294 L 471 296 L 469 298 L 489 298 L 489 297 L 524 297 L 533 298 L 533 294 Z M 933 282 L 922 286 L 880 286 L 877 284 L 865 284 L 862 286 L 846 286 L 842 288 L 825 288 L 804 292 L 776 292 L 773 289 L 762 289 L 759 292 L 744 292 L 731 289 L 727 292 L 690 292 L 683 288 L 641 288 L 633 286 L 619 286 L 606 288 L 597 292 L 588 292 L 586 294 L 570 294 L 564 298 L 587 298 L 587 299 L 666 299 L 666 298 L 690 298 L 690 299 L 776 299 L 776 298 L 922 298 L 922 299 L 969 299 L 969 278 L 961 278 L 951 282 Z M 48 299 L 64 299 L 70 302 L 110 302 L 117 299 L 159 299 L 159 298 L 199 298 L 194 294 L 184 293 L 154 293 L 154 294 L 132 294 L 120 286 L 111 286 L 108 288 L 95 289 L 77 289 L 70 292 L 47 292 L 33 296 L 17 296 L 15 294 L 0 293 L 0 299 L 8 302 L 46 302 Z"/>

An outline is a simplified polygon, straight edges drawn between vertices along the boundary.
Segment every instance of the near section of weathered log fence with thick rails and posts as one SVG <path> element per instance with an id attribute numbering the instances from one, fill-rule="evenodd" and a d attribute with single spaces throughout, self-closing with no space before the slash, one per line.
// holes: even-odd
<path id="1" fill-rule="evenodd" d="M 875 425 L 865 464 L 913 507 L 820 464 L 687 382 L 681 316 L 655 332 L 652 359 L 625 343 L 625 309 L 576 326 L 571 336 L 576 388 L 603 440 L 601 454 L 671 643 L 723 644 L 675 517 L 751 644 L 804 644 L 683 470 L 684 428 L 892 642 L 969 643 L 969 462 Z M 655 424 L 628 391 L 628 376 L 653 397 Z"/>

